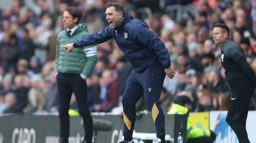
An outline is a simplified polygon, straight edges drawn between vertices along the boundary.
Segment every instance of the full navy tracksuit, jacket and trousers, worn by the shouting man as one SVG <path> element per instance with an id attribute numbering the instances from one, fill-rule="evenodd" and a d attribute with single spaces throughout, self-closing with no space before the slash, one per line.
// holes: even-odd
<path id="1" fill-rule="evenodd" d="M 125 12 L 124 19 L 112 29 L 110 26 L 101 31 L 77 39 L 73 46 L 84 47 L 115 39 L 118 47 L 134 67 L 126 81 L 126 89 L 122 96 L 124 111 L 123 135 L 126 141 L 132 140 L 136 121 L 135 104 L 144 94 L 146 104 L 152 112 L 156 135 L 164 140 L 164 113 L 158 100 L 166 73 L 164 68 L 171 65 L 170 57 L 164 43 L 148 29 L 146 22 L 132 17 Z"/>

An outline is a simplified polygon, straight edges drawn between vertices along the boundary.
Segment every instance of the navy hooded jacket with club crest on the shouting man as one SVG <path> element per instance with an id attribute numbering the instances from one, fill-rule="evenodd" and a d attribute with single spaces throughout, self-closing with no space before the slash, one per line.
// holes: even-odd
<path id="1" fill-rule="evenodd" d="M 133 18 L 130 12 L 125 12 L 124 19 L 115 29 L 109 25 L 101 31 L 79 38 L 73 46 L 84 47 L 113 38 L 135 71 L 143 72 L 158 61 L 164 68 L 170 67 L 170 57 L 164 43 L 148 29 L 146 22 Z"/>

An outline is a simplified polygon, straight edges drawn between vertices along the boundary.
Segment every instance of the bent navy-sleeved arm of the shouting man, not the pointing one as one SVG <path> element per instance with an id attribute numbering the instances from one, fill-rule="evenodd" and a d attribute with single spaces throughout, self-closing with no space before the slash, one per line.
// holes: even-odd
<path id="1" fill-rule="evenodd" d="M 158 60 L 162 63 L 164 68 L 171 66 L 171 60 L 167 48 L 164 43 L 156 36 L 156 34 L 146 26 L 135 27 L 132 30 L 133 37 L 137 41 L 143 43 L 148 48 L 153 49 L 158 56 Z"/>

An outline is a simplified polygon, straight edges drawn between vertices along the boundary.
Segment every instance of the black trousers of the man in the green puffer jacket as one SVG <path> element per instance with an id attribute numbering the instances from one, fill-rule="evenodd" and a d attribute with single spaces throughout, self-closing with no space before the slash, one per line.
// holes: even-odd
<path id="1" fill-rule="evenodd" d="M 80 74 L 58 73 L 56 76 L 59 93 L 59 119 L 60 119 L 60 143 L 68 143 L 70 119 L 68 110 L 70 108 L 71 95 L 74 92 L 78 112 L 84 120 L 86 143 L 92 143 L 92 116 L 87 102 L 86 81 Z"/>

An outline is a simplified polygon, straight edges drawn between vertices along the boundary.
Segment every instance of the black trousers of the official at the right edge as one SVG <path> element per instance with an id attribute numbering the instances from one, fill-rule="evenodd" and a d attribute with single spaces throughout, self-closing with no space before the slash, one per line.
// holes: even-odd
<path id="1" fill-rule="evenodd" d="M 246 119 L 254 89 L 253 84 L 246 84 L 232 90 L 226 122 L 236 133 L 239 143 L 250 143 L 246 131 Z"/>

